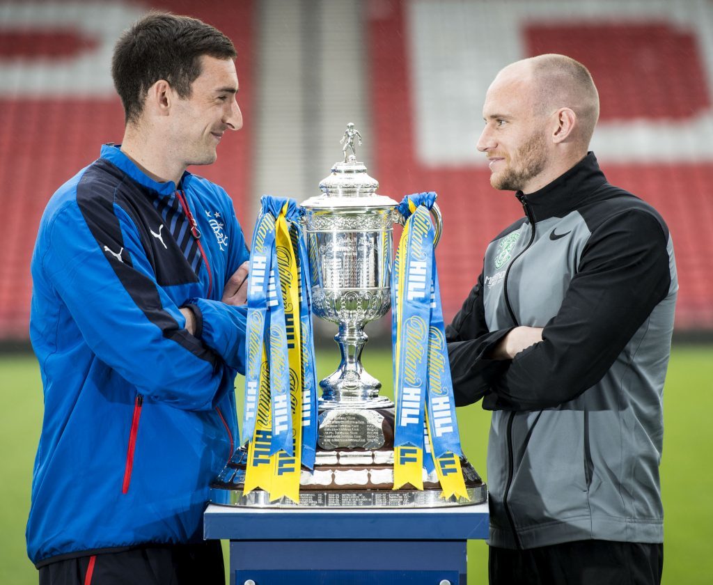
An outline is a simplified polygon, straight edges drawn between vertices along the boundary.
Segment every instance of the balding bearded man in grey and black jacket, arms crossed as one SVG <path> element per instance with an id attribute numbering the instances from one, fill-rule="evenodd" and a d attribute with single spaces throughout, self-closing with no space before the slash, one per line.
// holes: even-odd
<path id="1" fill-rule="evenodd" d="M 458 405 L 492 411 L 491 584 L 660 583 L 662 392 L 678 289 L 650 205 L 588 151 L 597 89 L 541 55 L 498 73 L 478 150 L 525 216 L 446 330 Z"/>

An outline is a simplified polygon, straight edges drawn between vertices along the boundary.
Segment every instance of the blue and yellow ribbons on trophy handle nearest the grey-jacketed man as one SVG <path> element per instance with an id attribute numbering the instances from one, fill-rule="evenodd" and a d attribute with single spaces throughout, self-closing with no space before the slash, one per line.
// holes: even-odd
<path id="1" fill-rule="evenodd" d="M 441 497 L 468 499 L 429 217 L 435 200 L 436 193 L 419 193 L 399 204 L 407 219 L 392 287 L 394 489 L 423 489 L 423 469 L 435 468 Z"/>

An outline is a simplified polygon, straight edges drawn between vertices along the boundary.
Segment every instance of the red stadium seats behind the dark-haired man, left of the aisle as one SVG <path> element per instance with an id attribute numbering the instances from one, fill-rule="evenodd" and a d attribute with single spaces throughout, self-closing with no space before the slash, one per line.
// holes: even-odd
<path id="1" fill-rule="evenodd" d="M 182 0 L 153 4 L 176 14 L 205 19 L 235 39 L 240 54 L 240 107 L 246 117 L 250 116 L 253 84 L 249 57 L 252 52 L 248 49 L 253 36 L 252 2 L 223 0 L 197 5 Z M 58 43 L 58 39 L 62 42 Z M 29 21 L 17 30 L 4 23 L 0 32 L 0 64 L 41 62 L 61 68 L 83 51 L 95 48 L 96 42 L 84 39 L 78 28 L 68 30 L 62 26 L 48 31 L 46 24 L 39 22 L 33 29 Z M 102 59 L 104 63 L 106 57 Z M 101 66 L 108 67 L 108 63 Z M 91 70 L 86 71 L 87 76 L 91 74 Z M 76 81 L 86 85 L 93 80 Z M 97 158 L 102 143 L 118 143 L 123 136 L 123 111 L 111 90 L 99 97 L 67 97 L 54 95 L 51 88 L 43 92 L 29 86 L 14 89 L 14 95 L 5 91 L 0 96 L 0 250 L 4 253 L 0 263 L 0 340 L 28 338 L 32 288 L 29 265 L 48 199 L 62 183 Z M 227 138 L 220 146 L 215 165 L 193 171 L 225 187 L 235 200 L 240 220 L 252 225 L 252 213 L 246 209 L 250 200 L 250 126 Z"/>

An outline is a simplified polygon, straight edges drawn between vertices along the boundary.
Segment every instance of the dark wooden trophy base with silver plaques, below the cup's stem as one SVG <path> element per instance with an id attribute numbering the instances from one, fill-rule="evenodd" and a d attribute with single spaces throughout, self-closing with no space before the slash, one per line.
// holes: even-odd
<path id="1" fill-rule="evenodd" d="M 470 499 L 441 497 L 436 471 L 425 468 L 424 489 L 411 484 L 394 489 L 393 408 L 340 405 L 319 414 L 314 470 L 302 467 L 299 503 L 284 497 L 270 502 L 270 495 L 259 489 L 243 494 L 246 467 L 247 448 L 240 447 L 210 485 L 211 502 L 260 508 L 434 508 L 482 504 L 488 499 L 486 484 L 465 457 L 461 457 L 461 472 Z"/>

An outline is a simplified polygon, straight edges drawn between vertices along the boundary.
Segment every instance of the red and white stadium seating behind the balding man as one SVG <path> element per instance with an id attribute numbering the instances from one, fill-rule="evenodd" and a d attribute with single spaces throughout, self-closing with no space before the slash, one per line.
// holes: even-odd
<path id="1" fill-rule="evenodd" d="M 652 203 L 670 227 L 680 285 L 677 330 L 713 328 L 713 249 L 706 238 L 713 219 L 713 53 L 704 51 L 711 46 L 705 23 L 713 21 L 713 3 L 630 0 L 613 9 L 515 0 L 507 6 L 491 0 L 374 4 L 369 46 L 381 190 L 439 193 L 445 235 L 437 260 L 446 320 L 475 283 L 487 243 L 523 213 L 515 198 L 490 187 L 484 160 L 458 161 L 461 153 L 448 150 L 458 143 L 477 156 L 482 98 L 461 114 L 461 126 L 477 128 L 470 143 L 461 128 L 448 126 L 442 110 L 452 93 L 468 91 L 472 76 L 488 80 L 484 92 L 506 63 L 562 53 L 585 63 L 597 82 L 597 133 L 605 140 L 593 148 L 607 178 Z M 622 12 L 607 15 L 607 9 Z M 439 50 L 450 52 L 433 58 Z M 488 67 L 491 72 L 478 71 Z M 453 86 L 438 87 L 441 80 Z M 434 96 L 443 103 L 429 103 Z M 429 116 L 441 126 L 437 132 L 424 121 Z"/>

